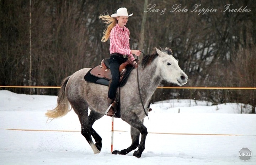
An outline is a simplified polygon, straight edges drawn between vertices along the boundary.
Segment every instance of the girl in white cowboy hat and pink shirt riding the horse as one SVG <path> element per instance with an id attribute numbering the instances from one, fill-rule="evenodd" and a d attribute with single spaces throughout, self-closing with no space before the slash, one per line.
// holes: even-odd
<path id="1" fill-rule="evenodd" d="M 129 46 L 129 29 L 125 27 L 128 17 L 133 14 L 128 15 L 127 9 L 121 7 L 117 10 L 117 13 L 109 15 L 100 15 L 105 23 L 108 24 L 107 28 L 104 31 L 104 35 L 101 39 L 102 42 L 106 42 L 110 39 L 110 71 L 112 75 L 112 82 L 108 90 L 108 109 L 105 111 L 105 114 L 108 116 L 114 116 L 114 97 L 116 96 L 116 90 L 119 84 L 119 66 L 127 61 L 127 57 L 131 61 L 134 61 L 132 54 L 137 56 L 140 55 L 139 50 L 130 50 Z M 134 61 L 135 64 L 135 61 Z"/>

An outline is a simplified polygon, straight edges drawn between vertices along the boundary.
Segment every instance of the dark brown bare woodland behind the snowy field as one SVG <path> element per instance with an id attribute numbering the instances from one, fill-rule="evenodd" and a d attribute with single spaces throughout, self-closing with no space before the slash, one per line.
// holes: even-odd
<path id="1" fill-rule="evenodd" d="M 234 75 L 244 75 L 249 71 L 244 70 L 243 73 L 233 68 L 233 62 L 238 62 L 240 58 L 238 52 L 254 52 L 256 11 L 252 9 L 256 4 L 252 0 L 200 1 L 201 7 L 218 10 L 205 13 L 191 12 L 196 3 L 194 1 L 33 0 L 31 46 L 29 1 L 0 2 L 1 85 L 27 86 L 31 82 L 32 86 L 59 86 L 64 77 L 75 71 L 100 64 L 103 58 L 110 56 L 110 43 L 101 42 L 106 27 L 98 16 L 100 13 L 111 14 L 119 7 L 127 7 L 129 12 L 134 13 L 127 24 L 131 48 L 143 50 L 146 54 L 152 53 L 155 47 L 171 48 L 179 65 L 189 76 L 186 86 L 255 86 L 251 81 L 241 84 L 239 79 L 234 78 Z M 247 6 L 251 11 L 220 12 L 229 3 L 232 3 L 232 9 Z M 144 12 L 149 10 L 147 6 L 150 8 L 154 4 L 158 12 Z M 174 10 L 175 4 L 180 4 L 181 8 L 188 11 L 170 12 Z M 175 85 L 162 83 L 161 86 Z M 29 92 L 19 88 L 11 90 Z M 56 89 L 33 89 L 32 92 L 57 94 Z M 254 92 L 243 96 L 251 101 L 248 104 L 253 105 L 251 98 L 254 98 Z M 153 96 L 154 100 L 169 98 L 226 103 L 240 101 L 241 93 L 227 90 L 158 89 Z"/>

